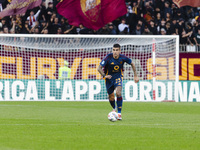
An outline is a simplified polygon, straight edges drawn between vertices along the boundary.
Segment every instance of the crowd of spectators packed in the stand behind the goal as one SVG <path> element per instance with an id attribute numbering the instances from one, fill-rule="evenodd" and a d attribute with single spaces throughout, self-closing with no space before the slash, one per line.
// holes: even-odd
<path id="1" fill-rule="evenodd" d="M 43 0 L 25 14 L 1 18 L 0 33 L 179 35 L 180 44 L 200 46 L 200 7 L 178 8 L 172 0 L 126 0 L 127 14 L 96 31 L 71 26 L 57 13 L 58 3 Z"/>

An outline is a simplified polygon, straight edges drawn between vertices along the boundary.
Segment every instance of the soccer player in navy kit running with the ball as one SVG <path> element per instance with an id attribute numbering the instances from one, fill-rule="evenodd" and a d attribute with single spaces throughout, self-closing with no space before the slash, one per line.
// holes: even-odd
<path id="1" fill-rule="evenodd" d="M 123 98 L 121 96 L 121 92 L 123 80 L 123 65 L 125 62 L 131 65 L 134 72 L 134 81 L 135 83 L 137 83 L 139 81 L 139 78 L 137 77 L 135 65 L 130 58 L 121 54 L 121 48 L 119 44 L 113 45 L 112 53 L 108 54 L 101 61 L 97 69 L 98 72 L 103 76 L 103 78 L 105 78 L 106 89 L 109 95 L 109 102 L 113 108 L 113 111 L 116 111 L 114 95 L 114 90 L 116 90 L 118 120 L 122 120 L 121 110 Z"/>

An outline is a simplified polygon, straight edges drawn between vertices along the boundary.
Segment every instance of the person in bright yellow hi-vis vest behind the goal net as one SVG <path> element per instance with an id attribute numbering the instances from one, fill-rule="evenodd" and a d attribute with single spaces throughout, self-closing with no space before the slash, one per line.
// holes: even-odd
<path id="1" fill-rule="evenodd" d="M 68 67 L 69 62 L 64 61 L 64 66 L 59 68 L 59 79 L 60 80 L 68 80 L 71 76 L 71 69 Z"/>

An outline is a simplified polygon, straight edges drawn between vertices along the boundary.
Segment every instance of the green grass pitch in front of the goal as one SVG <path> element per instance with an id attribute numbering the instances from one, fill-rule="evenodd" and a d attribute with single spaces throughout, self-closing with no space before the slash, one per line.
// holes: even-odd
<path id="1" fill-rule="evenodd" d="M 0 102 L 0 150 L 199 150 L 200 103 Z"/>

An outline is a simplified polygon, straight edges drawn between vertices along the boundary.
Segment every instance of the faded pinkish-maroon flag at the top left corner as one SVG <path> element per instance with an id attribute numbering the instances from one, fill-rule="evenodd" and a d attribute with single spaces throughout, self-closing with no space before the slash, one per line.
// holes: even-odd
<path id="1" fill-rule="evenodd" d="M 10 4 L 0 12 L 0 17 L 23 14 L 28 9 L 33 9 L 41 4 L 42 0 L 12 0 Z"/>

